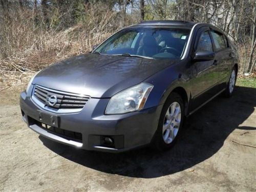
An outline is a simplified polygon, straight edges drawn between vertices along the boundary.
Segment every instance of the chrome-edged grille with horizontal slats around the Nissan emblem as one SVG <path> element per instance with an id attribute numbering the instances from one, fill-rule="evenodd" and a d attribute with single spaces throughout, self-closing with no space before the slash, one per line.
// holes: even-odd
<path id="1" fill-rule="evenodd" d="M 33 97 L 34 96 L 34 97 Z M 44 88 L 38 85 L 34 86 L 32 99 L 37 104 L 44 105 L 44 108 L 53 110 L 76 110 L 82 109 L 83 106 L 90 99 L 87 95 L 78 95 L 68 92 L 56 91 L 48 88 Z M 56 99 L 56 103 L 49 102 L 49 98 L 53 96 Z M 41 102 L 41 103 L 38 103 Z"/>

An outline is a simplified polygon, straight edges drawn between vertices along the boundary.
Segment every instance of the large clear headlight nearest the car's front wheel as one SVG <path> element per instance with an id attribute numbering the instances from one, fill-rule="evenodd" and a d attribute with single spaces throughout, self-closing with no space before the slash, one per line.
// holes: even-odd
<path id="1" fill-rule="evenodd" d="M 152 84 L 140 83 L 117 93 L 110 99 L 105 114 L 123 114 L 142 110 L 152 89 Z"/>

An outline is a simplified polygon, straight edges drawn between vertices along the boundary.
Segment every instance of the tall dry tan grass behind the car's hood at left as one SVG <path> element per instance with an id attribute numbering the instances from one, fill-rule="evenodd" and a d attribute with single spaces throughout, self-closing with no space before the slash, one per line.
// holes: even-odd
<path id="1" fill-rule="evenodd" d="M 97 9 L 96 9 L 97 10 Z M 91 51 L 121 26 L 116 13 L 88 10 L 87 22 L 65 30 L 34 24 L 34 11 L 3 17 L 0 25 L 0 90 L 26 83 L 38 70 L 74 55 Z M 39 17 L 40 18 L 40 17 Z"/>

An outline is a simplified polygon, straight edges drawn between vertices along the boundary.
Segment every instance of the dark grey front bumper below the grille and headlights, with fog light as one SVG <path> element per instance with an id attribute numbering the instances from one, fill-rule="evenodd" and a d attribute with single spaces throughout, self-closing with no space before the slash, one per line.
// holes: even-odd
<path id="1" fill-rule="evenodd" d="M 79 147 L 84 150 L 123 152 L 149 144 L 157 130 L 162 105 L 121 115 L 104 115 L 110 99 L 91 98 L 79 113 L 54 114 L 37 106 L 26 92 L 20 94 L 20 109 L 23 120 L 30 129 L 51 140 Z M 57 115 L 56 132 L 45 129 L 38 111 Z M 67 134 L 61 134 L 69 133 Z M 80 135 L 80 139 L 72 137 Z M 105 145 L 102 138 L 110 137 L 113 145 Z"/>

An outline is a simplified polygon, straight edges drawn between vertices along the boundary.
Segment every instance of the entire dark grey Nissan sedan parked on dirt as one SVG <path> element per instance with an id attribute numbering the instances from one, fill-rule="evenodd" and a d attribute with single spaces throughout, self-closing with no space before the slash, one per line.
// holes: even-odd
<path id="1" fill-rule="evenodd" d="M 56 142 L 164 151 L 179 139 L 185 117 L 221 93 L 232 95 L 237 72 L 237 50 L 217 27 L 147 21 L 41 70 L 20 94 L 20 109 L 30 129 Z"/>

